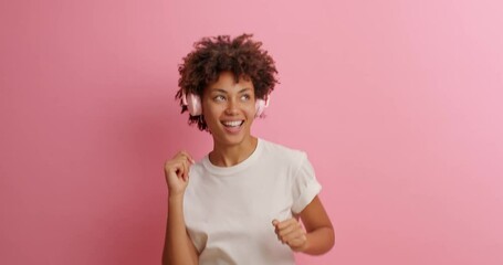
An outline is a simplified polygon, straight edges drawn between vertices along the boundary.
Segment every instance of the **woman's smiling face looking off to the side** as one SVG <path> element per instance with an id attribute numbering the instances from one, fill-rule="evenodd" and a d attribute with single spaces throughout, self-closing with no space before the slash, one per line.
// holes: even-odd
<path id="1" fill-rule="evenodd" d="M 202 114 L 217 145 L 234 146 L 251 140 L 255 95 L 251 81 L 238 83 L 230 72 L 220 74 L 202 95 Z"/>

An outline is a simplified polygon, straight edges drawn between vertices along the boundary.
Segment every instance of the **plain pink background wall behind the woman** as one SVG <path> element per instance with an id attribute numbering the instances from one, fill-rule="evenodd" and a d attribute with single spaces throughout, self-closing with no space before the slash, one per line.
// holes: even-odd
<path id="1" fill-rule="evenodd" d="M 336 246 L 298 264 L 503 264 L 501 1 L 2 1 L 0 264 L 159 264 L 174 100 L 206 35 L 280 70 L 254 132 L 308 152 Z M 217 195 L 217 194 L 216 194 Z"/>

